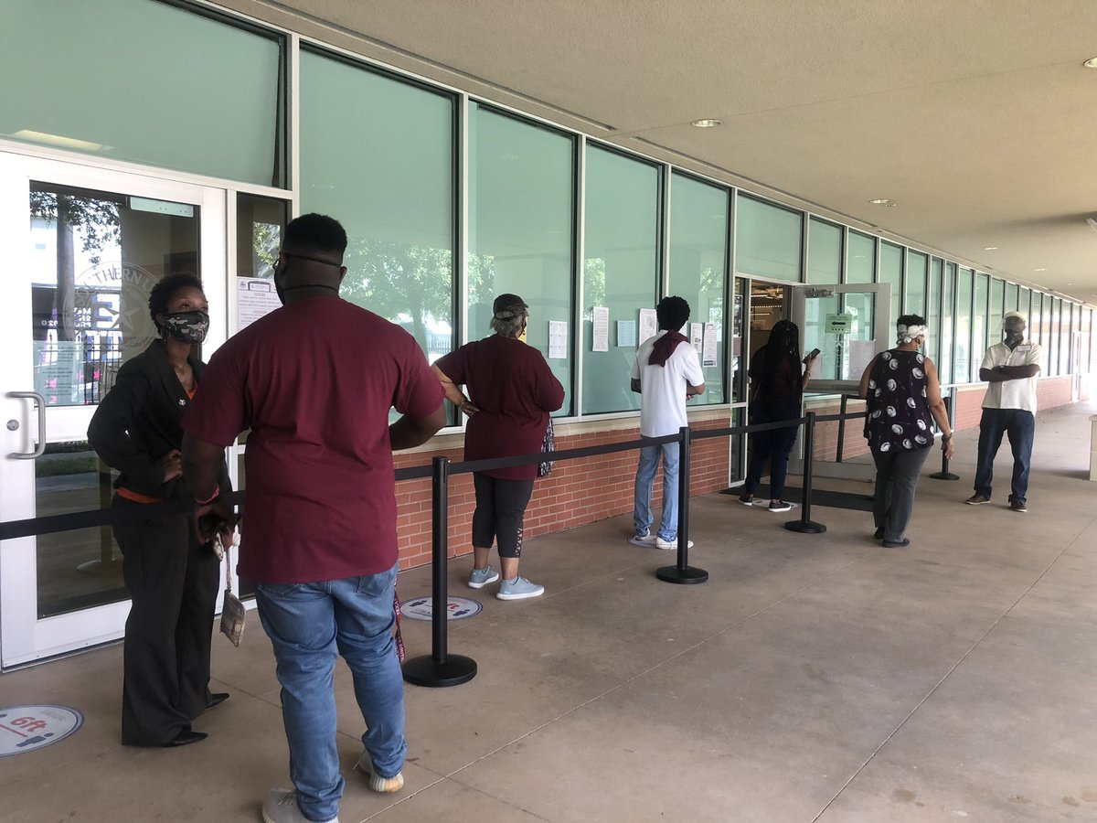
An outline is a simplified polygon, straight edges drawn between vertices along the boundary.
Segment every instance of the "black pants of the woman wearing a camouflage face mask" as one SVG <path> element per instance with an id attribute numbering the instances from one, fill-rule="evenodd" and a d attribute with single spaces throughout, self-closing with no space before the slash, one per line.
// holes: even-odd
<path id="1" fill-rule="evenodd" d="M 114 497 L 120 508 L 140 505 Z M 217 555 L 197 542 L 188 515 L 120 523 L 114 539 L 133 599 L 123 653 L 122 742 L 161 746 L 191 728 L 210 696 Z"/>

